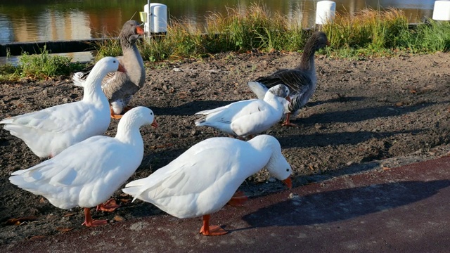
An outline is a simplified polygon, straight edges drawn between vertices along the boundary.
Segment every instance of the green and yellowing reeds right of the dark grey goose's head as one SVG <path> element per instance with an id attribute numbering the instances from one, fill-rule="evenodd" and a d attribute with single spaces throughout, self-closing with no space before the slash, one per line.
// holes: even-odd
<path id="1" fill-rule="evenodd" d="M 410 26 L 404 13 L 394 8 L 337 14 L 323 26 L 332 45 L 326 51 L 341 57 L 449 51 L 449 22 L 427 21 Z"/>

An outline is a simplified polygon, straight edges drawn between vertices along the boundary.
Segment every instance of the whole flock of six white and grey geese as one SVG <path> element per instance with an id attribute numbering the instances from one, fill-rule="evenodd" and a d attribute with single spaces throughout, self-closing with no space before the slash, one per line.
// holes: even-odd
<path id="1" fill-rule="evenodd" d="M 139 129 L 158 127 L 152 110 L 127 106 L 145 80 L 136 47 L 141 34 L 136 21 L 126 22 L 119 36 L 123 56 L 102 58 L 73 75 L 74 84 L 84 89 L 82 100 L 0 121 L 35 155 L 50 157 L 29 169 L 14 171 L 11 183 L 46 197 L 59 208 L 83 207 L 85 226 L 107 223 L 92 219 L 91 207 L 105 211 L 118 207 L 108 199 L 141 164 L 144 150 Z M 201 234 L 224 235 L 227 231 L 223 228 L 210 225 L 210 214 L 227 203 L 242 205 L 246 197 L 236 190 L 248 176 L 266 167 L 291 188 L 292 169 L 280 143 L 273 136 L 255 135 L 283 117 L 283 124 L 293 125 L 291 114 L 296 115 L 316 89 L 314 53 L 328 44 L 323 32 L 315 32 L 299 66 L 248 83 L 258 99 L 196 113 L 201 115 L 196 126 L 210 126 L 250 141 L 208 138 L 147 178 L 127 183 L 122 191 L 178 218 L 203 216 Z M 115 137 L 103 135 L 110 118 L 120 119 Z"/>

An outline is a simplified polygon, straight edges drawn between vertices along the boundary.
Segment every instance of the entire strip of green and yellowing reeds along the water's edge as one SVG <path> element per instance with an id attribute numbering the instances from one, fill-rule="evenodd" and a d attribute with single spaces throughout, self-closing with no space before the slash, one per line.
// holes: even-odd
<path id="1" fill-rule="evenodd" d="M 228 8 L 226 15 L 210 13 L 205 27 L 198 27 L 190 20 L 172 20 L 166 35 L 139 41 L 138 47 L 143 59 L 148 61 L 203 58 L 229 51 L 301 51 L 311 30 L 301 27 L 302 10 L 297 13 L 289 19 L 261 4 Z M 394 8 L 337 14 L 321 30 L 326 32 L 331 46 L 319 53 L 328 56 L 365 58 L 394 56 L 399 52 L 450 51 L 450 22 L 428 20 L 410 27 L 404 13 Z M 114 39 L 96 46 L 97 59 L 122 54 L 119 41 Z M 0 79 L 68 75 L 76 67 L 69 63 L 70 58 L 49 56 L 44 48 L 40 55 L 21 56 L 14 71 L 11 66 L 0 68 Z"/>

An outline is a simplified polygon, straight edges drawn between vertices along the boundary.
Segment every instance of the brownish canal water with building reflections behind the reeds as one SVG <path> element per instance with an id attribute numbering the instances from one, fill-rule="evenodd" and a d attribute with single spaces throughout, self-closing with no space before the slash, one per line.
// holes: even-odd
<path id="1" fill-rule="evenodd" d="M 227 8 L 264 4 L 269 10 L 298 17 L 304 27 L 314 25 L 316 0 L 159 0 L 169 17 L 188 19 L 202 27 L 211 12 L 226 15 Z M 336 11 L 354 13 L 364 8 L 399 8 L 409 22 L 432 16 L 434 0 L 335 0 Z M 0 44 L 115 37 L 127 20 L 139 20 L 146 0 L 1 0 Z M 300 15 L 298 15 L 300 13 Z M 72 57 L 91 57 L 89 53 Z M 79 59 L 76 59 L 79 60 Z"/>

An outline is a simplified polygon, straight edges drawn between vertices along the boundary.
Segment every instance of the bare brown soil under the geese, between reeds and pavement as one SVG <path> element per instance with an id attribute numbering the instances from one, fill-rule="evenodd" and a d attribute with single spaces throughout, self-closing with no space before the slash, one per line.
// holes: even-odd
<path id="1" fill-rule="evenodd" d="M 248 81 L 299 62 L 298 53 L 274 52 L 147 65 L 146 86 L 131 104 L 151 108 L 160 127 L 141 129 L 145 154 L 129 181 L 148 176 L 194 143 L 224 135 L 194 126 L 195 112 L 254 98 Z M 318 89 L 293 121 L 300 127 L 277 125 L 267 133 L 280 141 L 294 170 L 295 187 L 449 153 L 450 53 L 368 60 L 316 57 L 316 70 Z M 82 89 L 68 78 L 11 82 L 0 84 L 0 98 L 4 118 L 79 100 Z M 116 127 L 113 121 L 107 134 L 113 136 Z M 0 130 L 0 245 L 82 228 L 82 209 L 58 209 L 9 183 L 11 172 L 39 162 L 23 141 Z M 283 185 L 263 170 L 242 188 L 258 196 Z M 120 190 L 114 197 L 122 207 L 113 213 L 93 212 L 94 219 L 120 222 L 161 212 L 147 203 L 131 203 Z"/>

